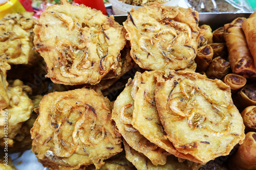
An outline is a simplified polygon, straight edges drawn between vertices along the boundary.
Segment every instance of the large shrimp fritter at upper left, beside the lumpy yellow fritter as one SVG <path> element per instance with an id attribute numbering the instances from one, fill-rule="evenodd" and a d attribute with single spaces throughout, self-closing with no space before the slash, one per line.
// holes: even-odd
<path id="1" fill-rule="evenodd" d="M 54 83 L 97 84 L 120 75 L 125 30 L 110 17 L 84 5 L 62 0 L 41 13 L 35 50 L 44 57 Z"/>

